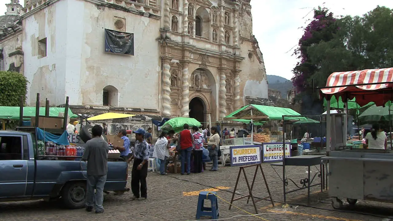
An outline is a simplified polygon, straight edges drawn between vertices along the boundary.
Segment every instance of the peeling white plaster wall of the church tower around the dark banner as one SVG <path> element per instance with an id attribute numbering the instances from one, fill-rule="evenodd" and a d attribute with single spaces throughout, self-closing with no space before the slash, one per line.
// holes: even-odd
<path id="1" fill-rule="evenodd" d="M 125 19 L 125 32 L 134 33 L 134 56 L 104 52 L 104 28 L 115 29 L 115 16 Z M 69 96 L 70 105 L 102 106 L 103 88 L 112 85 L 118 89 L 119 107 L 159 109 L 159 20 L 61 0 L 26 18 L 23 28 L 25 75 L 32 82 L 29 104 L 40 92 L 51 105 L 63 104 Z M 37 41 L 44 37 L 47 56 L 39 58 Z"/>

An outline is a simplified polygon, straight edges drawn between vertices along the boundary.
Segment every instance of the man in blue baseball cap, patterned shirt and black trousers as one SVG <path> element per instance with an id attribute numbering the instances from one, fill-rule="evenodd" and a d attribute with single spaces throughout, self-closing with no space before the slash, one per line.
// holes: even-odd
<path id="1" fill-rule="evenodd" d="M 139 128 L 132 131 L 135 134 L 134 164 L 131 172 L 131 191 L 134 194 L 131 199 L 147 198 L 147 166 L 149 161 L 149 144 L 145 141 L 145 130 Z"/>

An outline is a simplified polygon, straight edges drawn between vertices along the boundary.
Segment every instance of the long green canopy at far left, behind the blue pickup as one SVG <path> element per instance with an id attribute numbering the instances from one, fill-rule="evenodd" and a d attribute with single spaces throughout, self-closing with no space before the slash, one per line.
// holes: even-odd
<path id="1" fill-rule="evenodd" d="M 0 119 L 3 120 L 19 120 L 19 107 L 0 106 Z M 40 107 L 40 116 L 45 116 L 45 107 Z M 49 116 L 58 117 L 59 113 L 64 112 L 64 107 L 50 107 Z M 70 118 L 77 118 L 71 109 L 68 109 L 68 116 Z M 35 117 L 35 107 L 23 107 L 23 117 Z"/>

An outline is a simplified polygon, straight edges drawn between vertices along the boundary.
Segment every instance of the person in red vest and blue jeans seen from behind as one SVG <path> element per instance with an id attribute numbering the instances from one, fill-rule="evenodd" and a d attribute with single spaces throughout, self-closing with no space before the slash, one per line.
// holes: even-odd
<path id="1" fill-rule="evenodd" d="M 190 168 L 191 168 L 191 149 L 193 146 L 194 139 L 189 131 L 189 125 L 185 123 L 183 125 L 183 130 L 179 134 L 179 142 L 180 142 L 180 153 L 182 156 L 182 164 L 181 164 L 181 174 L 184 175 L 184 164 L 187 162 L 187 175 L 190 175 Z M 187 161 L 186 161 L 187 160 Z"/>

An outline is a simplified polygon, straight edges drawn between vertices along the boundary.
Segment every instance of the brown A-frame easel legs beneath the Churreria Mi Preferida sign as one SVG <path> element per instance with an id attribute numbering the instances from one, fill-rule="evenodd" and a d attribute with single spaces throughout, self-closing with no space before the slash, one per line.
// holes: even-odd
<path id="1" fill-rule="evenodd" d="M 247 175 L 246 175 L 246 171 L 244 170 L 244 168 L 249 168 L 249 167 L 255 167 L 254 178 L 252 179 L 252 184 L 251 184 L 251 186 L 250 186 L 250 182 L 248 182 L 248 178 L 247 178 Z M 266 189 L 268 190 L 269 196 L 264 197 L 264 198 L 262 198 L 262 199 L 255 200 L 255 199 L 254 199 L 254 196 L 252 195 L 252 188 L 254 187 L 254 182 L 255 182 L 255 178 L 257 177 L 258 169 L 261 169 L 261 173 L 262 173 L 262 176 L 263 176 L 263 180 L 264 180 L 264 182 L 265 182 Z M 247 187 L 248 187 L 248 195 L 242 195 L 241 197 L 234 199 L 234 198 L 235 198 L 235 194 L 236 194 L 237 184 L 239 183 L 239 179 L 240 179 L 240 175 L 241 175 L 242 171 L 243 171 L 243 174 L 244 174 L 244 178 L 246 179 L 246 184 L 247 184 Z M 272 205 L 274 206 L 274 201 L 273 201 L 273 198 L 272 198 L 272 194 L 270 193 L 269 185 L 268 185 L 268 183 L 267 183 L 267 181 L 266 181 L 265 174 L 263 173 L 262 164 L 252 164 L 252 165 L 248 165 L 248 166 L 241 166 L 241 167 L 239 167 L 239 174 L 237 175 L 237 180 L 236 180 L 236 184 L 235 184 L 235 189 L 233 190 L 232 199 L 231 199 L 231 204 L 229 205 L 229 209 L 231 209 L 233 201 L 237 201 L 237 200 L 239 200 L 239 199 L 243 199 L 243 198 L 246 198 L 246 197 L 248 197 L 248 198 L 247 198 L 247 204 L 248 204 L 248 202 L 250 202 L 250 198 L 251 198 L 252 203 L 253 203 L 254 208 L 255 208 L 255 213 L 258 213 L 257 205 L 256 205 L 255 203 L 257 203 L 257 202 L 259 202 L 259 201 L 262 201 L 262 200 L 265 200 L 265 199 L 270 198 L 270 202 L 271 202 Z"/>

